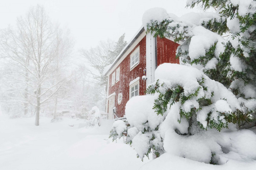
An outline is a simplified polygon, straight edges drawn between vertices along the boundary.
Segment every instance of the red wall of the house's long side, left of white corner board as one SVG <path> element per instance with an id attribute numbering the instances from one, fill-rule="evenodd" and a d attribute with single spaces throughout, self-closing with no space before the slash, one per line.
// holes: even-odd
<path id="1" fill-rule="evenodd" d="M 130 55 L 137 47 L 140 46 L 140 59 L 139 64 L 130 71 Z M 116 72 L 116 69 L 120 67 L 120 80 L 116 82 L 113 86 L 112 83 L 112 74 Z M 140 40 L 140 42 L 133 48 L 133 50 L 127 55 L 127 57 L 111 72 L 109 75 L 109 89 L 108 94 L 113 94 L 116 92 L 115 96 L 115 106 L 118 117 L 124 116 L 125 104 L 129 100 L 129 83 L 140 77 L 139 80 L 139 95 L 144 95 L 146 91 L 146 81 L 142 80 L 143 70 L 146 68 L 146 36 Z M 123 94 L 123 99 L 121 104 L 117 103 L 118 94 Z"/>

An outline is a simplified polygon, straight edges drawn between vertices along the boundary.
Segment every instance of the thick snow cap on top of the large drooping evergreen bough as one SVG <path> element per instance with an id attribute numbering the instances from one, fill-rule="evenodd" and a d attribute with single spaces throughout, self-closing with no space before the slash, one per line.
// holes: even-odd
<path id="1" fill-rule="evenodd" d="M 201 86 L 198 80 L 202 79 L 202 77 L 205 79 L 202 85 L 207 87 L 207 91 L 203 91 L 201 88 L 199 94 L 194 99 L 199 99 L 202 96 L 210 98 L 211 92 L 214 92 L 214 96 L 211 98 L 213 103 L 221 98 L 225 98 L 230 104 L 232 111 L 236 110 L 236 108 L 241 109 L 240 102 L 238 102 L 236 96 L 231 91 L 227 90 L 223 84 L 208 78 L 197 68 L 181 64 L 164 63 L 155 71 L 156 80 L 159 79 L 160 82 L 167 82 L 169 87 L 182 86 L 185 96 L 194 93 Z"/>

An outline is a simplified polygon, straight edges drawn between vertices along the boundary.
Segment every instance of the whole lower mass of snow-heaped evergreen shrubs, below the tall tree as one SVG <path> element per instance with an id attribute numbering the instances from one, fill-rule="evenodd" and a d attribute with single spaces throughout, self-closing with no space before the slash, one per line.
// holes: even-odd
<path id="1" fill-rule="evenodd" d="M 122 120 L 115 122 L 113 140 L 127 131 L 127 143 L 140 158 L 153 149 L 157 157 L 168 152 L 212 164 L 256 159 L 256 146 L 251 145 L 256 135 L 237 131 L 237 110 L 244 108 L 223 84 L 196 68 L 170 63 L 160 65 L 155 77 L 158 80 L 147 89 L 154 95 L 127 102 L 130 126 L 126 128 Z M 252 120 L 251 115 L 245 117 Z"/>

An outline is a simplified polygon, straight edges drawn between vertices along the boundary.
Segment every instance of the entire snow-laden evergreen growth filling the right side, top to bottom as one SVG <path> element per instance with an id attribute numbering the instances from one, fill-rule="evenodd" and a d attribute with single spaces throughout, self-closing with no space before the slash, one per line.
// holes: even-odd
<path id="1" fill-rule="evenodd" d="M 216 13 L 177 17 L 153 8 L 143 15 L 147 33 L 181 43 L 176 56 L 182 64 L 157 68 L 157 81 L 147 88 L 154 95 L 144 96 L 153 102 L 141 96 L 128 101 L 128 142 L 140 158 L 154 149 L 212 164 L 256 159 L 255 128 L 241 130 L 255 126 L 256 1 L 187 5 Z"/>

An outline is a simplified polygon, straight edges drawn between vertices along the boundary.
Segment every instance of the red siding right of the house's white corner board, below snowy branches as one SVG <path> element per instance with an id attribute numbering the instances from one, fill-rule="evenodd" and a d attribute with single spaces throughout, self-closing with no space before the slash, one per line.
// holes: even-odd
<path id="1" fill-rule="evenodd" d="M 180 44 L 166 38 L 157 37 L 157 66 L 163 63 L 180 64 L 176 59 L 176 50 Z"/>

